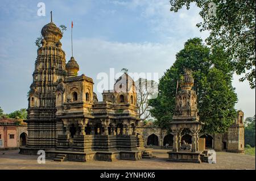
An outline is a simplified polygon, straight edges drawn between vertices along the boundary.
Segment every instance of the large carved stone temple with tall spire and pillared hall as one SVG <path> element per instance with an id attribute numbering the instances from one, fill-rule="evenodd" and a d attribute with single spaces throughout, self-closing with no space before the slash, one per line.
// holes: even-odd
<path id="1" fill-rule="evenodd" d="M 42 36 L 28 98 L 27 145 L 20 154 L 45 150 L 46 158 L 81 162 L 154 157 L 136 131 L 133 79 L 124 73 L 98 102 L 93 79 L 77 75 L 74 57 L 66 63 L 60 29 L 50 22 Z"/>

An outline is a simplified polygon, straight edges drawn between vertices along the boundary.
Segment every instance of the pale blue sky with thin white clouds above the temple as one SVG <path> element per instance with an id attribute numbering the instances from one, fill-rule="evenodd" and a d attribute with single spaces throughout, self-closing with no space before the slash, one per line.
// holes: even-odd
<path id="1" fill-rule="evenodd" d="M 46 16 L 38 16 L 39 2 L 46 5 Z M 50 21 L 64 24 L 61 43 L 66 61 L 71 57 L 71 21 L 73 20 L 74 57 L 79 74 L 100 81 L 97 74 L 120 71 L 159 73 L 174 63 L 175 54 L 192 37 L 205 39 L 200 32 L 199 9 L 192 6 L 170 12 L 170 3 L 163 1 L 1 1 L 0 2 L 0 106 L 6 113 L 27 107 L 27 91 L 32 82 L 36 60 L 36 37 Z M 248 82 L 234 76 L 239 101 L 237 109 L 245 116 L 255 114 L 255 90 Z M 101 92 L 94 90 L 101 100 Z"/>

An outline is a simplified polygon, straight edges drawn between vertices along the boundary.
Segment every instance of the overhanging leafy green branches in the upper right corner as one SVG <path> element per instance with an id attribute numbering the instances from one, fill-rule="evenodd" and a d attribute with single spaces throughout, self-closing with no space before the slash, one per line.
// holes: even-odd
<path id="1" fill-rule="evenodd" d="M 233 70 L 255 88 L 255 0 L 171 0 L 171 11 L 177 12 L 192 2 L 201 9 L 200 31 L 210 32 L 207 43 L 225 47 Z"/>

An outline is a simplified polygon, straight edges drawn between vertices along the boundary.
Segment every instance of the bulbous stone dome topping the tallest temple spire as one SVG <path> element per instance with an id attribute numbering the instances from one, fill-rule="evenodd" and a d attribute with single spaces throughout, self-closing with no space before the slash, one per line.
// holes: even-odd
<path id="1" fill-rule="evenodd" d="M 53 22 L 46 24 L 42 28 L 42 36 L 47 41 L 47 45 L 56 45 L 62 37 L 60 28 L 58 28 Z"/>

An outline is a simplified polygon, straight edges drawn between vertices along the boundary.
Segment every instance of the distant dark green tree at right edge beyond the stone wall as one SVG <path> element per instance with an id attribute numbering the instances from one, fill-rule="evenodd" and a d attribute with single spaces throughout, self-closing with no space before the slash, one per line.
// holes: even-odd
<path id="1" fill-rule="evenodd" d="M 255 146 L 255 115 L 253 120 L 245 127 L 245 145 Z"/>

